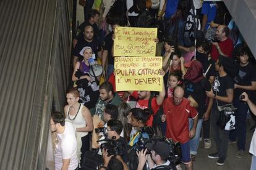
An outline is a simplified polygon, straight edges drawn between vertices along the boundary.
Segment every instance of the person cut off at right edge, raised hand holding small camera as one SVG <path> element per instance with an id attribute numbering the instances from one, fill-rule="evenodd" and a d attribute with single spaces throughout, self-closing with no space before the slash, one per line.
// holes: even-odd
<path id="1" fill-rule="evenodd" d="M 249 99 L 246 92 L 242 93 L 243 99 L 242 101 L 247 102 L 250 110 L 254 115 L 256 115 L 256 105 L 252 103 L 252 101 Z M 254 136 L 252 136 L 252 141 L 250 142 L 250 149 L 249 152 L 252 153 L 252 164 L 250 165 L 250 169 L 256 169 L 256 131 L 254 131 Z"/>

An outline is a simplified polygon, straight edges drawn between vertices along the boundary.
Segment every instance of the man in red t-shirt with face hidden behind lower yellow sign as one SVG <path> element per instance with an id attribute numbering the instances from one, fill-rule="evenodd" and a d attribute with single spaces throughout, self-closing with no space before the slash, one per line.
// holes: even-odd
<path id="1" fill-rule="evenodd" d="M 136 103 L 136 108 L 148 108 L 148 100 L 150 99 L 151 92 L 150 91 L 134 91 L 131 94 L 132 97 L 135 99 L 138 99 Z M 163 89 L 161 92 L 159 92 L 159 95 L 157 97 L 153 97 L 151 100 L 151 108 L 153 110 L 153 115 L 150 116 L 150 119 L 147 121 L 147 126 L 152 126 L 153 124 L 153 116 L 156 114 L 158 109 L 161 107 L 163 100 L 165 96 L 165 89 L 163 84 Z"/>

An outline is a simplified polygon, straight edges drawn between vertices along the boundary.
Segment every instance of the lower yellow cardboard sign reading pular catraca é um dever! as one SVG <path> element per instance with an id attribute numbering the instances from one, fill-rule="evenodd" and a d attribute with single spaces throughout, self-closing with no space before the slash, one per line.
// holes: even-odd
<path id="1" fill-rule="evenodd" d="M 162 57 L 115 57 L 116 91 L 162 91 Z"/>

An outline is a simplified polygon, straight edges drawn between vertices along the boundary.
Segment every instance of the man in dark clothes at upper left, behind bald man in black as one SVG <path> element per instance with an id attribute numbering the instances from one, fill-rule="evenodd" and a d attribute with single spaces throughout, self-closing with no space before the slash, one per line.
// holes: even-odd
<path id="1" fill-rule="evenodd" d="M 93 36 L 95 38 L 99 38 L 100 30 L 98 28 L 98 20 L 100 17 L 100 12 L 96 9 L 91 9 L 88 13 L 88 20 L 85 20 L 85 22 L 81 23 L 79 25 L 79 28 L 77 28 L 77 31 L 75 32 L 75 37 L 73 39 L 73 47 L 75 48 L 75 45 L 80 39 L 83 39 L 83 30 L 85 30 L 85 26 L 90 25 L 93 28 Z"/>

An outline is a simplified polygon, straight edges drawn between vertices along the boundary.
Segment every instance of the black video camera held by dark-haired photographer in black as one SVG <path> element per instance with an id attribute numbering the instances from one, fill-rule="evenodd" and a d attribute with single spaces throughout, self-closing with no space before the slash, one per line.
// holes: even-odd
<path id="1" fill-rule="evenodd" d="M 106 143 L 101 144 L 100 148 L 108 150 L 108 156 L 110 155 L 124 155 L 124 147 L 122 146 L 122 142 L 113 140 L 113 139 L 105 139 Z"/>

